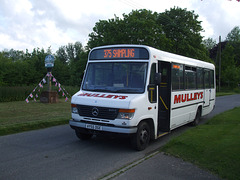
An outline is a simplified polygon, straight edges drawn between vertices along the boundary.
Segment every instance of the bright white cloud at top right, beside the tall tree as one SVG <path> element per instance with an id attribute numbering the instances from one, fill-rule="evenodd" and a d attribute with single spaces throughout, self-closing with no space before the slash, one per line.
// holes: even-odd
<path id="1" fill-rule="evenodd" d="M 206 36 L 218 39 L 222 36 L 225 39 L 234 26 L 240 22 L 239 6 L 237 1 L 229 0 L 203 0 L 202 3 L 193 3 L 195 11 L 203 20 L 203 28 Z"/>

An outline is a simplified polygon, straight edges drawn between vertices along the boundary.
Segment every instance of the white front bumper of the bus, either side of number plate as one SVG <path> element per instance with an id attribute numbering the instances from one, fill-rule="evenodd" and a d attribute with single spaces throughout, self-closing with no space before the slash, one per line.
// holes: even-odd
<path id="1" fill-rule="evenodd" d="M 84 128 L 87 130 L 86 124 L 91 124 L 91 122 L 85 123 L 85 122 L 74 121 L 73 119 L 69 121 L 69 125 L 71 127 Z M 102 132 L 112 132 L 112 133 L 122 133 L 122 134 L 133 134 L 137 132 L 137 127 L 116 127 L 116 126 L 113 127 L 113 126 L 105 126 L 104 124 L 102 124 L 101 126 L 102 126 L 102 130 L 101 130 Z"/>

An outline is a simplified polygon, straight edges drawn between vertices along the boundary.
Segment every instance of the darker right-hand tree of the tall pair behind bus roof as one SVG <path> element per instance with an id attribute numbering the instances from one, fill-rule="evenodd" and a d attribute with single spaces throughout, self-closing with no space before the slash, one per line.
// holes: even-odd
<path id="1" fill-rule="evenodd" d="M 201 21 L 198 21 L 198 15 L 194 14 L 194 11 L 174 7 L 161 13 L 158 22 L 162 25 L 166 37 L 171 40 L 171 52 L 210 61 L 202 44 Z"/>

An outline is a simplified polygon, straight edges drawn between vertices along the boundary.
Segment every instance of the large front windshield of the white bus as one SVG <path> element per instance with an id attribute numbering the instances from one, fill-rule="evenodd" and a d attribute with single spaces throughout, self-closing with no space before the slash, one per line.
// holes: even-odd
<path id="1" fill-rule="evenodd" d="M 97 92 L 143 93 L 146 62 L 89 63 L 82 89 Z"/>

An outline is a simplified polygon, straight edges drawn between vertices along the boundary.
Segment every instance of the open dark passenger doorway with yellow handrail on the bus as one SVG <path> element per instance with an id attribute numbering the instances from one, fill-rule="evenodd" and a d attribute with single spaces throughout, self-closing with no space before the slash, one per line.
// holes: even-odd
<path id="1" fill-rule="evenodd" d="M 158 85 L 158 135 L 170 131 L 171 110 L 171 63 L 158 62 L 161 84 Z"/>

